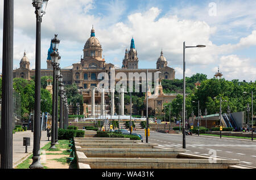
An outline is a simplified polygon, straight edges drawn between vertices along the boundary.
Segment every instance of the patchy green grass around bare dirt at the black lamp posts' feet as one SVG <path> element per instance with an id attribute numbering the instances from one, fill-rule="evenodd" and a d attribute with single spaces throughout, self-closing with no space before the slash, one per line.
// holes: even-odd
<path id="1" fill-rule="evenodd" d="M 68 152 L 67 150 L 70 149 L 68 144 L 69 140 L 59 140 L 59 144 L 56 144 L 55 147 L 56 149 L 49 149 L 51 147 L 51 142 L 47 143 L 42 147 L 41 149 L 44 151 L 52 151 L 52 153 L 46 153 L 46 155 L 71 155 L 71 152 Z M 62 149 L 62 150 L 61 150 Z M 61 153 L 55 153 L 55 151 L 60 151 Z M 26 160 L 24 160 L 21 164 L 15 167 L 15 169 L 28 169 L 29 166 L 31 165 L 31 159 L 33 155 L 30 155 Z M 57 162 L 61 162 L 61 164 L 68 164 L 72 169 L 77 168 L 76 163 L 72 162 L 71 164 L 67 162 L 67 158 L 62 157 L 62 158 L 55 158 L 52 159 Z M 44 164 L 42 164 L 44 166 Z M 47 166 L 44 166 L 44 169 L 48 169 Z"/>

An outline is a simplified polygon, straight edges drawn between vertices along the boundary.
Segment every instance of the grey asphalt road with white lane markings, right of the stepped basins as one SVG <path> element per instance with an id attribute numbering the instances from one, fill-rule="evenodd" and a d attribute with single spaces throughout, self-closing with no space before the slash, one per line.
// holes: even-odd
<path id="1" fill-rule="evenodd" d="M 144 131 L 136 133 L 141 134 L 144 142 L 146 142 Z M 159 148 L 182 148 L 182 134 L 164 134 L 151 131 L 148 142 L 158 143 Z M 218 157 L 239 159 L 242 165 L 256 167 L 256 141 L 192 135 L 186 136 L 186 149 L 188 153 L 196 155 L 209 156 L 214 152 Z"/>

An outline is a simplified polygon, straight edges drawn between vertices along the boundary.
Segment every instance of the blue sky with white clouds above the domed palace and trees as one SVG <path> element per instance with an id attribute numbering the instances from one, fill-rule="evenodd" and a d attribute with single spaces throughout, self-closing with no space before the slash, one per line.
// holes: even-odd
<path id="1" fill-rule="evenodd" d="M 107 63 L 122 67 L 134 38 L 139 68 L 156 68 L 163 55 L 183 78 L 213 78 L 218 67 L 227 80 L 256 80 L 256 1 L 49 0 L 42 21 L 42 68 L 55 34 L 60 38 L 60 67 L 80 62 L 92 25 Z M 14 0 L 14 68 L 24 51 L 35 68 L 36 17 L 32 1 Z M 0 66 L 2 67 L 3 1 L 0 1 Z M 2 68 L 0 68 L 2 72 Z"/>

